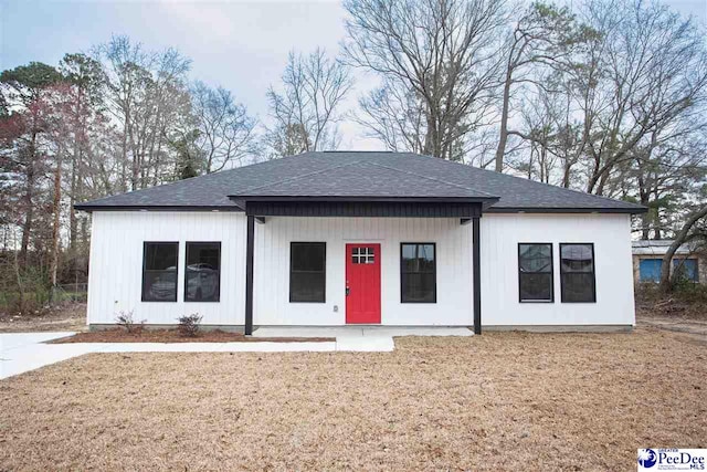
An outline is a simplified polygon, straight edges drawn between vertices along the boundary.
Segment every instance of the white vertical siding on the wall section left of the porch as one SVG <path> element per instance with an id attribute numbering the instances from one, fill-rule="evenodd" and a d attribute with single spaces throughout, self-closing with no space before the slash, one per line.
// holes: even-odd
<path id="1" fill-rule="evenodd" d="M 88 272 L 88 324 L 134 312 L 147 324 L 173 325 L 191 313 L 204 325 L 242 325 L 245 310 L 245 217 L 233 212 L 96 211 Z M 179 242 L 177 302 L 141 302 L 143 244 Z M 184 302 L 186 242 L 221 242 L 220 302 Z"/>

